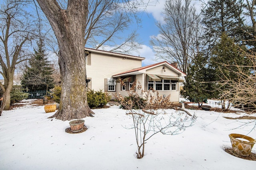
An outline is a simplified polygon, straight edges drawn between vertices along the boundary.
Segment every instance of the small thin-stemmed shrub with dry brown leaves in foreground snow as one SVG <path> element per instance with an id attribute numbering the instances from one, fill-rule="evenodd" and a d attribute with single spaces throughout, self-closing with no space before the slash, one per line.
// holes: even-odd
<path id="1" fill-rule="evenodd" d="M 122 80 L 120 82 L 121 86 L 125 86 Z M 147 92 L 142 90 L 141 93 L 144 94 L 145 99 L 140 98 L 138 91 L 141 91 L 141 87 L 140 82 L 137 84 L 134 81 L 132 88 L 128 91 L 128 98 L 122 95 L 116 96 L 116 99 L 127 109 L 126 114 L 132 117 L 138 159 L 143 158 L 146 141 L 152 136 L 157 133 L 164 135 L 180 134 L 196 121 L 196 115 L 192 116 L 187 111 L 184 113 L 176 109 L 175 113 L 166 113 L 164 108 L 174 108 L 170 102 L 170 95 L 163 98 L 155 90 Z M 136 91 L 134 91 L 135 88 Z"/>

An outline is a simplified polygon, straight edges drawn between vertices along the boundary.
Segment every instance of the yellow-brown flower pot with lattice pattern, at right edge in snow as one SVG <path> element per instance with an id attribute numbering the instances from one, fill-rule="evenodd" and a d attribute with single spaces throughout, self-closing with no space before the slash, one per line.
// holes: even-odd
<path id="1" fill-rule="evenodd" d="M 256 140 L 246 135 L 231 133 L 229 137 L 233 151 L 241 156 L 248 156 L 252 151 L 253 145 L 256 143 Z"/>

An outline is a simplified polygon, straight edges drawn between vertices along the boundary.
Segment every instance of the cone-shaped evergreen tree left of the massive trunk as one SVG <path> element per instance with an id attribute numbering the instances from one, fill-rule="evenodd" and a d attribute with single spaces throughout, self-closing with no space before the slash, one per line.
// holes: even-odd
<path id="1" fill-rule="evenodd" d="M 44 40 L 40 38 L 37 45 L 29 65 L 26 65 L 21 84 L 29 90 L 48 90 L 54 87 L 53 68 L 46 57 Z"/>

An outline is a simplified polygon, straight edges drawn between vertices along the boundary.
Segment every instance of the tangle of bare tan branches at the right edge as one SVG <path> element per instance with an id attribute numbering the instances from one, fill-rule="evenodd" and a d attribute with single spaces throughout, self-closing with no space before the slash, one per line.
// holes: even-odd
<path id="1" fill-rule="evenodd" d="M 232 68 L 236 69 L 230 69 L 230 64 L 223 64 L 230 74 L 236 74 L 236 77 L 223 74 L 222 86 L 227 88 L 220 89 L 221 98 L 228 100 L 233 106 L 247 107 L 247 111 L 252 113 L 256 111 L 256 55 L 243 51 L 240 57 L 248 59 L 250 64 L 232 65 Z"/>

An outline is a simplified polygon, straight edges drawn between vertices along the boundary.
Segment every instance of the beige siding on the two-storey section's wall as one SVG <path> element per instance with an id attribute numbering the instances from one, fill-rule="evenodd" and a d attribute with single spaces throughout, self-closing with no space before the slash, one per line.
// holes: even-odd
<path id="1" fill-rule="evenodd" d="M 114 74 L 141 67 L 142 64 L 141 60 L 112 55 L 91 53 L 90 56 L 91 65 L 86 65 L 86 72 L 87 76 L 92 78 L 92 89 L 95 91 L 104 90 L 104 78 L 111 78 Z"/>

